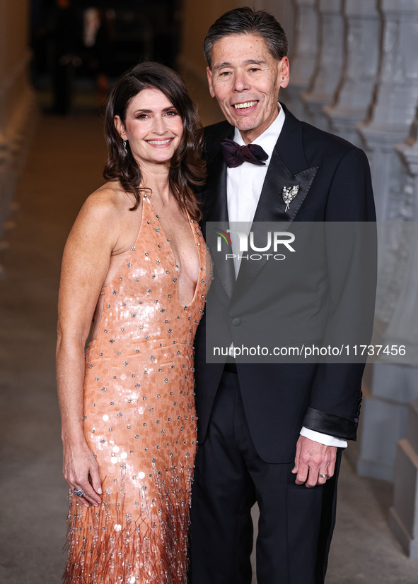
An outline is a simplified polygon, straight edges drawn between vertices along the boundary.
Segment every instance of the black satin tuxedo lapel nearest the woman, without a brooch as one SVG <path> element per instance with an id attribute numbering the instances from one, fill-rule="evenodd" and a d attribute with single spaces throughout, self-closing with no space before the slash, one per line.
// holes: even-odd
<path id="1" fill-rule="evenodd" d="M 228 202 L 226 198 L 226 163 L 221 152 L 208 164 L 208 181 L 205 189 L 204 219 L 206 222 L 214 222 L 219 229 L 228 229 Z M 215 264 L 215 277 L 219 278 L 228 298 L 231 299 L 235 285 L 235 270 L 233 261 L 225 261 L 225 250 L 222 253 L 216 251 L 216 237 L 214 227 L 209 227 L 213 233 L 204 232 L 211 255 Z M 223 259 L 222 259 L 223 258 Z"/>

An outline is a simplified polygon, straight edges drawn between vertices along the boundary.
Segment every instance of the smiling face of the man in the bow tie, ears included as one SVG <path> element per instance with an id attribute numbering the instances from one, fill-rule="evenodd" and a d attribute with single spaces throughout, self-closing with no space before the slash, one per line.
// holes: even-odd
<path id="1" fill-rule="evenodd" d="M 228 35 L 212 49 L 207 78 L 230 124 L 246 144 L 260 136 L 278 115 L 279 89 L 289 83 L 289 60 L 270 54 L 258 35 Z"/>

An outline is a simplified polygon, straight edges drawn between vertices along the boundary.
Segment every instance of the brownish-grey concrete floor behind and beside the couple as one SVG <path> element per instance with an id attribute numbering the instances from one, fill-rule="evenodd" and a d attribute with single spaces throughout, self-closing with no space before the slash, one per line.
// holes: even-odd
<path id="1" fill-rule="evenodd" d="M 64 568 L 67 501 L 54 383 L 59 264 L 76 213 L 102 183 L 102 136 L 93 116 L 41 119 L 16 197 L 16 229 L 7 234 L 11 249 L 0 257 L 3 584 L 58 584 Z M 391 496 L 390 484 L 362 479 L 344 462 L 327 584 L 418 584 L 418 563 L 386 522 Z"/>

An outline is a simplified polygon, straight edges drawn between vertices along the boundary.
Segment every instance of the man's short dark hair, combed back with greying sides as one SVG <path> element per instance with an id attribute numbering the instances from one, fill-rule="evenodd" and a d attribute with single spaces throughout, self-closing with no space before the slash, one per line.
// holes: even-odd
<path id="1" fill-rule="evenodd" d="M 258 35 L 264 39 L 274 59 L 283 59 L 287 54 L 286 34 L 276 18 L 264 10 L 254 11 L 245 6 L 226 12 L 209 28 L 203 44 L 209 68 L 215 42 L 229 35 Z"/>

